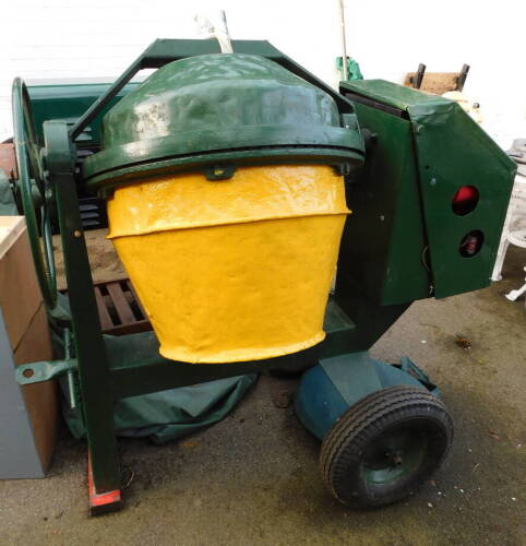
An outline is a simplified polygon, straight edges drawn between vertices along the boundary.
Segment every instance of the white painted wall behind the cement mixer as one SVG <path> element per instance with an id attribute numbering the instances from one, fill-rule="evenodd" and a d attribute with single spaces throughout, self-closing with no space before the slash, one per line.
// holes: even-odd
<path id="1" fill-rule="evenodd" d="M 0 141 L 11 134 L 10 86 L 25 80 L 115 78 L 155 38 L 196 36 L 196 12 L 227 12 L 232 38 L 268 39 L 332 85 L 340 55 L 337 0 L 9 0 L 0 13 Z M 364 78 L 402 82 L 471 67 L 465 93 L 507 149 L 526 136 L 526 2 L 346 1 L 348 54 Z"/>

